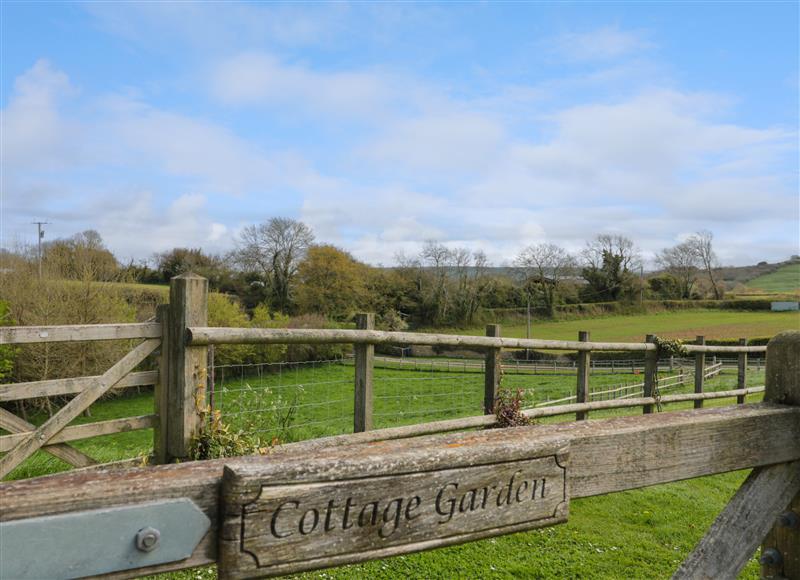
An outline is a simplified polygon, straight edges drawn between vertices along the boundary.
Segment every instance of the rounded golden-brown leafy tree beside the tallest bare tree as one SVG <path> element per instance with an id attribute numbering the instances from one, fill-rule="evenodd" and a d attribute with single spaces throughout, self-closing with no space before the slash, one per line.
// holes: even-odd
<path id="1" fill-rule="evenodd" d="M 311 246 L 297 270 L 297 306 L 300 312 L 344 320 L 365 306 L 366 264 L 330 245 Z"/>

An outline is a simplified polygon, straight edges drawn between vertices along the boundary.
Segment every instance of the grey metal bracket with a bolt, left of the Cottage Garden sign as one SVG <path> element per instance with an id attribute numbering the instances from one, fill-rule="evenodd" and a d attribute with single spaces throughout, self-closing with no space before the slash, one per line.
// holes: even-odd
<path id="1" fill-rule="evenodd" d="M 211 527 L 189 499 L 0 523 L 0 579 L 81 578 L 188 558 Z"/>

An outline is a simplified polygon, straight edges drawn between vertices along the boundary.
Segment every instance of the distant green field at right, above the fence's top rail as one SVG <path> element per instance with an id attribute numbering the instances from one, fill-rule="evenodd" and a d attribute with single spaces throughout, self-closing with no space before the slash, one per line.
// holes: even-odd
<path id="1" fill-rule="evenodd" d="M 685 310 L 631 316 L 606 316 L 532 324 L 532 338 L 575 340 L 579 330 L 591 332 L 595 341 L 636 342 L 647 334 L 669 338 L 755 338 L 773 336 L 783 330 L 800 329 L 800 312 L 747 312 L 730 310 Z M 503 326 L 502 335 L 525 337 L 525 325 Z M 448 334 L 482 335 L 483 327 L 467 330 L 442 329 Z"/>

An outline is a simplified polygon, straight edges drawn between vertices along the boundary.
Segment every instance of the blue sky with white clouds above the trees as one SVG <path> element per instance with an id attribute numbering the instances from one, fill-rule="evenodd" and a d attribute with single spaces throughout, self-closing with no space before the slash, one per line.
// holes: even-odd
<path id="1" fill-rule="evenodd" d="M 800 253 L 798 2 L 0 2 L 0 238 Z"/>

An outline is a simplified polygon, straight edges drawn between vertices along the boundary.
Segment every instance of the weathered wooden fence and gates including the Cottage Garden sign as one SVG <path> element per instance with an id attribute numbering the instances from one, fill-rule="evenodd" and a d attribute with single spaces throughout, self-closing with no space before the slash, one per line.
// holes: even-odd
<path id="1" fill-rule="evenodd" d="M 108 389 L 154 380 L 152 373 L 132 371 L 159 346 L 156 413 L 133 424 L 155 427 L 157 462 L 184 459 L 201 428 L 206 353 L 215 344 L 353 344 L 356 433 L 283 445 L 265 457 L 92 467 L 0 484 L 0 577 L 152 574 L 214 562 L 226 578 L 273 576 L 554 525 L 566 521 L 574 497 L 753 467 L 675 577 L 735 576 L 762 541 L 765 575 L 800 577 L 800 531 L 788 515 L 792 506 L 800 509 L 800 332 L 779 335 L 767 347 L 698 340 L 687 346 L 698 369 L 695 392 L 662 395 L 653 336 L 642 343 L 591 342 L 588 333 L 578 341 L 513 339 L 500 336 L 495 325 L 484 337 L 381 332 L 371 315 L 360 316 L 356 330 L 210 328 L 206 299 L 206 281 L 187 275 L 173 280 L 170 305 L 159 309 L 155 324 L 0 331 L 0 344 L 142 339 L 98 377 L 4 385 L 6 401 L 26 388 L 37 396 L 76 396 L 37 428 L 4 419 L 3 428 L 16 432 L 0 437 L 8 450 L 0 459 L 2 473 L 37 449 L 90 464 L 66 443 L 97 435 L 109 422 L 68 423 Z M 485 414 L 371 429 L 377 344 L 483 349 Z M 575 413 L 580 421 L 475 431 L 496 425 L 492 407 L 503 348 L 577 351 L 576 402 L 524 413 Z M 765 350 L 766 387 L 748 389 L 746 357 Z M 643 353 L 642 396 L 591 401 L 592 351 Z M 704 391 L 705 357 L 713 353 L 738 356 L 737 389 Z M 764 403 L 744 404 L 746 395 L 762 391 Z M 722 397 L 741 404 L 699 408 Z M 697 410 L 653 412 L 690 400 Z M 643 415 L 586 421 L 591 411 L 633 406 Z M 52 559 L 37 557 L 41 551 L 26 548 L 29 538 L 53 544 L 57 568 Z"/>

